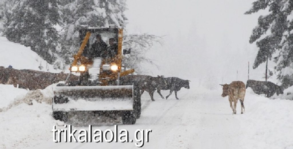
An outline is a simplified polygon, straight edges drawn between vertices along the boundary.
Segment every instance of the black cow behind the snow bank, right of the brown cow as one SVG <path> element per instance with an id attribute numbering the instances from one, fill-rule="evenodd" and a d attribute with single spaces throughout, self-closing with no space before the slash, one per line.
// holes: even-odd
<path id="1" fill-rule="evenodd" d="M 260 95 L 260 94 L 266 94 L 267 97 L 272 97 L 275 93 L 277 95 L 284 94 L 284 89 L 282 86 L 276 85 L 272 82 L 265 82 L 265 81 L 255 81 L 255 80 L 247 80 L 246 82 L 246 88 L 250 87 L 254 93 Z"/>

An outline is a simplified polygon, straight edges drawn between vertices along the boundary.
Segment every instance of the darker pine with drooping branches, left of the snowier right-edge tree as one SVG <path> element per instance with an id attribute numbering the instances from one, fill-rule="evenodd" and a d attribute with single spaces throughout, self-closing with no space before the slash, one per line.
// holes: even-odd
<path id="1" fill-rule="evenodd" d="M 269 14 L 258 18 L 258 25 L 253 29 L 249 42 L 256 42 L 258 54 L 255 58 L 253 68 L 257 68 L 267 58 L 280 49 L 283 32 L 287 29 L 286 14 L 282 11 L 284 0 L 258 0 L 253 2 L 253 7 L 245 14 L 256 13 L 261 9 L 269 7 Z M 260 39 L 270 29 L 264 38 Z"/>

